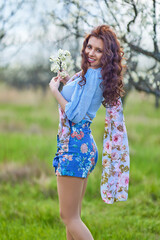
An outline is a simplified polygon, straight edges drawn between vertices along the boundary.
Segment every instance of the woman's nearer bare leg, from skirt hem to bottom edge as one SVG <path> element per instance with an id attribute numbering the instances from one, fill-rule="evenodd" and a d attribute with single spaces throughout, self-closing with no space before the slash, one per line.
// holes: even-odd
<path id="1" fill-rule="evenodd" d="M 83 178 L 57 176 L 60 216 L 74 240 L 93 240 L 79 214 L 83 186 Z"/>

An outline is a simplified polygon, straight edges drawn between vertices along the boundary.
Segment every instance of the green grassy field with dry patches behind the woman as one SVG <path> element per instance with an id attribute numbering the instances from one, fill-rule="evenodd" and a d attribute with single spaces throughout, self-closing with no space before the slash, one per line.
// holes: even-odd
<path id="1" fill-rule="evenodd" d="M 129 198 L 100 196 L 105 109 L 91 129 L 99 150 L 83 200 L 82 220 L 95 240 L 160 239 L 160 109 L 132 92 L 124 106 L 130 146 Z M 0 87 L 0 239 L 65 240 L 56 176 L 57 103 L 48 92 Z"/>

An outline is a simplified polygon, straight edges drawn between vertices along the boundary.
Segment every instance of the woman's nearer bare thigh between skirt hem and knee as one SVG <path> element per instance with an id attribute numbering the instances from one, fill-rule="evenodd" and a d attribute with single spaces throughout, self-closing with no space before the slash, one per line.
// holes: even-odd
<path id="1" fill-rule="evenodd" d="M 59 207 L 62 219 L 79 217 L 84 183 L 84 178 L 57 176 Z"/>

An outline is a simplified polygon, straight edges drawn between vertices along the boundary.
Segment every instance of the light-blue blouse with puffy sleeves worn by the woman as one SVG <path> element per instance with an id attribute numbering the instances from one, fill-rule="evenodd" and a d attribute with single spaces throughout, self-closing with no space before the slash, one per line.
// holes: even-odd
<path id="1" fill-rule="evenodd" d="M 82 119 L 92 122 L 103 100 L 103 92 L 99 86 L 103 80 L 101 68 L 89 68 L 85 78 L 85 85 L 78 84 L 82 79 L 80 76 L 67 83 L 61 91 L 62 96 L 68 101 L 65 106 L 66 116 L 74 123 L 78 123 Z"/>

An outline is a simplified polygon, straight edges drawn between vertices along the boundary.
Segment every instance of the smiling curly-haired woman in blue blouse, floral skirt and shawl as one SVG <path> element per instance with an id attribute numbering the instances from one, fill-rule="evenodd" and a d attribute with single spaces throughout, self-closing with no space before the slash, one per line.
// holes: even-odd
<path id="1" fill-rule="evenodd" d="M 60 216 L 67 239 L 91 240 L 82 222 L 81 204 L 87 179 L 98 160 L 98 149 L 90 124 L 101 106 L 106 107 L 103 140 L 101 196 L 106 203 L 125 201 L 129 183 L 129 148 L 123 117 L 123 51 L 107 25 L 93 29 L 83 42 L 82 71 L 68 80 L 61 93 L 58 76 L 50 82 L 59 103 L 60 122 L 57 153 L 53 160 L 57 175 Z"/>

